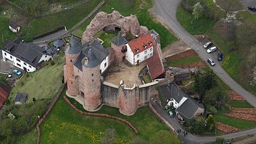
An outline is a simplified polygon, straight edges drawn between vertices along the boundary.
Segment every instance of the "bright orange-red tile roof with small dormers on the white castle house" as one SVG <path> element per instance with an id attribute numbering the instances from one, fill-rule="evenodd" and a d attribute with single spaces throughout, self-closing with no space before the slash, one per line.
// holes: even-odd
<path id="1" fill-rule="evenodd" d="M 150 45 L 152 43 L 152 45 Z M 131 47 L 131 50 L 134 55 L 145 51 L 146 49 L 156 45 L 152 35 L 150 33 L 147 33 L 146 35 L 140 36 L 138 38 L 135 38 L 134 40 L 130 41 L 129 46 Z M 144 46 L 147 45 L 146 48 Z"/>

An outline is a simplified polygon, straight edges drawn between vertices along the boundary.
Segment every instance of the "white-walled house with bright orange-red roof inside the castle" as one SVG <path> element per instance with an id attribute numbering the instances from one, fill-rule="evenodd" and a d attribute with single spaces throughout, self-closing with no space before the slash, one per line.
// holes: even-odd
<path id="1" fill-rule="evenodd" d="M 125 59 L 132 65 L 138 65 L 140 62 L 147 60 L 154 55 L 156 42 L 150 33 L 139 36 L 134 40 L 125 44 L 127 52 L 125 52 Z"/>

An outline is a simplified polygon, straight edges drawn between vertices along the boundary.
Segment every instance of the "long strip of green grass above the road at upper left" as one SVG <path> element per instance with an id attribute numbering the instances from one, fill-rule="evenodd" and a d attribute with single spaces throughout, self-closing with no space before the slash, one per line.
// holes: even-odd
<path id="1" fill-rule="evenodd" d="M 70 29 L 92 12 L 100 2 L 101 0 L 88 1 L 70 10 L 32 19 L 25 28 L 21 29 L 22 33 L 25 35 L 24 40 L 31 40 L 31 38 L 35 36 L 42 35 L 43 33 L 58 29 L 62 26 L 66 26 L 67 29 Z"/>

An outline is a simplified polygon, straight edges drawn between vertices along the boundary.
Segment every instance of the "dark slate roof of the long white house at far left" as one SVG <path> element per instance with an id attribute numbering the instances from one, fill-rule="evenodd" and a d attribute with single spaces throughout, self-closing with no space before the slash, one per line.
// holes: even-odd
<path id="1" fill-rule="evenodd" d="M 18 42 L 19 44 L 17 44 Z M 47 54 L 44 48 L 33 43 L 23 43 L 19 40 L 13 40 L 13 42 L 6 40 L 3 45 L 3 50 L 33 67 L 38 65 L 43 54 Z"/>

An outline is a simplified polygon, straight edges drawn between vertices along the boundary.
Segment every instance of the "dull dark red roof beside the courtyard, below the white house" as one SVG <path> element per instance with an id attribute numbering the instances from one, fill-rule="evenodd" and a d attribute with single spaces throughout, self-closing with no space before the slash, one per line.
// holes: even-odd
<path id="1" fill-rule="evenodd" d="M 157 51 L 152 57 L 147 59 L 147 66 L 152 80 L 156 79 L 164 72 L 163 63 Z"/>

